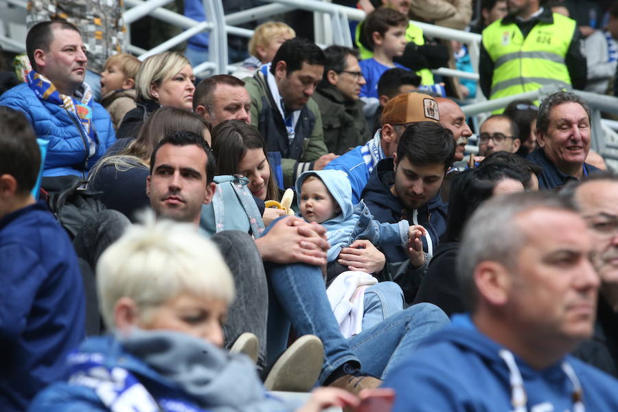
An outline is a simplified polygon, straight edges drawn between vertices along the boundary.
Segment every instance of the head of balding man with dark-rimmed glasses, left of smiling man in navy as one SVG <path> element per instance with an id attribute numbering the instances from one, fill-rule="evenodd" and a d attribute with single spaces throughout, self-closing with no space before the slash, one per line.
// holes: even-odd
<path id="1" fill-rule="evenodd" d="M 479 156 L 501 151 L 515 153 L 520 145 L 519 130 L 511 117 L 492 115 L 481 125 Z"/>

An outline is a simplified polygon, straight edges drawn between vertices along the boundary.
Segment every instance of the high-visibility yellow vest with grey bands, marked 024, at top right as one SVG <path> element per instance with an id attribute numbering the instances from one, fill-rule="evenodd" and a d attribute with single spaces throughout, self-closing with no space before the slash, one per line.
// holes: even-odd
<path id="1" fill-rule="evenodd" d="M 526 38 L 515 23 L 495 21 L 483 30 L 483 46 L 494 62 L 490 99 L 540 89 L 571 87 L 564 62 L 575 20 L 553 13 L 553 24 L 537 23 Z"/>

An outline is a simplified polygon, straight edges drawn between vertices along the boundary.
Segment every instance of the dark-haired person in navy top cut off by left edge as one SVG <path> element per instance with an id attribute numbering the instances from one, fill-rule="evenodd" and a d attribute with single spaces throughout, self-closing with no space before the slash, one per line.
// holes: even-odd
<path id="1" fill-rule="evenodd" d="M 0 128 L 0 404 L 25 411 L 64 376 L 65 356 L 86 336 L 86 308 L 69 236 L 30 193 L 41 168 L 34 131 L 6 107 Z"/>

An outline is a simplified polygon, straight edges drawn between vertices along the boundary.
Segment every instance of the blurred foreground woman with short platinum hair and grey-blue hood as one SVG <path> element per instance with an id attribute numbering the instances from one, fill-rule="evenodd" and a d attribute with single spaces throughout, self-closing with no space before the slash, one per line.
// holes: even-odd
<path id="1" fill-rule="evenodd" d="M 130 227 L 102 254 L 97 286 L 112 334 L 84 341 L 69 356 L 68 382 L 39 393 L 30 411 L 295 409 L 264 391 L 247 356 L 222 349 L 234 281 L 216 245 L 192 225 L 151 218 Z M 334 405 L 356 407 L 358 399 L 323 388 L 298 411 Z"/>

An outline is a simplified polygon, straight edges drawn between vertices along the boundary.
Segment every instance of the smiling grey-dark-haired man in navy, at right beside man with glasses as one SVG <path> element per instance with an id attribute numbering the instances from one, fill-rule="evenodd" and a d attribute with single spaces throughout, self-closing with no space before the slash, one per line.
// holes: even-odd
<path id="1" fill-rule="evenodd" d="M 591 142 L 590 108 L 574 93 L 559 91 L 542 101 L 536 141 L 540 147 L 527 159 L 543 169 L 538 176 L 541 189 L 581 180 L 599 170 L 585 163 Z"/>

